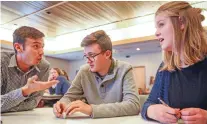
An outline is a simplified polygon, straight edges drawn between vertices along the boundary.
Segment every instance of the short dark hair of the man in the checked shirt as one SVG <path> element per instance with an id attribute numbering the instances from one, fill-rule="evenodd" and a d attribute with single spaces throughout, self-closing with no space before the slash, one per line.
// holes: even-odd
<path id="1" fill-rule="evenodd" d="M 25 41 L 26 38 L 31 38 L 31 39 L 38 39 L 38 38 L 43 38 L 45 35 L 33 28 L 33 27 L 29 27 L 29 26 L 22 26 L 17 28 L 14 33 L 13 33 L 13 44 L 14 43 L 19 43 L 23 45 L 23 49 L 24 49 L 24 45 L 25 45 Z M 15 50 L 15 48 L 14 48 Z M 15 50 L 16 53 L 16 50 Z"/>

